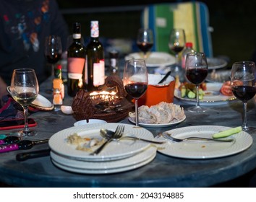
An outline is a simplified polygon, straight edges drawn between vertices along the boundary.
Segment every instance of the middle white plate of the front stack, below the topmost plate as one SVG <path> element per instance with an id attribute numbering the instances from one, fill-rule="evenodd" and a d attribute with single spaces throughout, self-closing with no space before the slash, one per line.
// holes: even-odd
<path id="1" fill-rule="evenodd" d="M 114 160 L 114 161 L 107 161 L 107 162 L 86 162 L 86 161 L 77 161 L 75 159 L 69 159 L 51 151 L 51 159 L 54 159 L 54 161 L 58 162 L 59 164 L 63 164 L 67 167 L 74 167 L 74 168 L 86 169 L 86 170 L 95 170 L 95 173 L 97 173 L 99 170 L 107 171 L 111 169 L 128 167 L 128 166 L 139 164 L 153 157 L 155 153 L 156 153 L 156 147 L 150 146 L 147 149 L 141 151 L 139 154 L 133 155 L 132 157 Z"/>

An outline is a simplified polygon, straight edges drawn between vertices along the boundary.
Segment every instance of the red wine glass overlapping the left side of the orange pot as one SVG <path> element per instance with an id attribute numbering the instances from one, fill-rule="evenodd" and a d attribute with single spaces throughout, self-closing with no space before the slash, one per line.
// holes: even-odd
<path id="1" fill-rule="evenodd" d="M 125 62 L 124 66 L 124 89 L 128 95 L 135 99 L 135 124 L 139 124 L 137 100 L 148 89 L 148 70 L 143 59 L 132 59 Z"/>

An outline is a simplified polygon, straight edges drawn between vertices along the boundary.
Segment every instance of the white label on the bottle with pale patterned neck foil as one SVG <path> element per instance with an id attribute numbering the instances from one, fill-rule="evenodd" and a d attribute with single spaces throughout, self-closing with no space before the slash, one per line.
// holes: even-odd
<path id="1" fill-rule="evenodd" d="M 93 63 L 93 85 L 95 87 L 101 86 L 105 83 L 105 61 L 101 60 L 99 63 Z"/>

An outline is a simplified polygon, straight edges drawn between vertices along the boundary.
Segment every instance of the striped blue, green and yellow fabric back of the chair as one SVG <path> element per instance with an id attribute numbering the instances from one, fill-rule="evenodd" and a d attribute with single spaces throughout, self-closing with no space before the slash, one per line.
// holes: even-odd
<path id="1" fill-rule="evenodd" d="M 186 41 L 193 43 L 195 51 L 213 57 L 209 29 L 208 7 L 199 1 L 152 4 L 142 12 L 142 26 L 154 32 L 152 51 L 169 52 L 168 38 L 172 28 L 185 30 Z"/>

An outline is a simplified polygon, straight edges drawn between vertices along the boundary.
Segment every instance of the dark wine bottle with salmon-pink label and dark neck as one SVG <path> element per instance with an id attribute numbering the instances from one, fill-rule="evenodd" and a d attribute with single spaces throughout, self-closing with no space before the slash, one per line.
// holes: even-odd
<path id="1" fill-rule="evenodd" d="M 84 88 L 85 79 L 82 78 L 85 71 L 86 49 L 81 43 L 81 25 L 74 23 L 73 43 L 67 50 L 67 94 L 74 97 Z"/>

